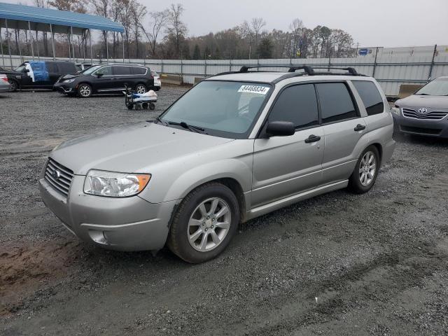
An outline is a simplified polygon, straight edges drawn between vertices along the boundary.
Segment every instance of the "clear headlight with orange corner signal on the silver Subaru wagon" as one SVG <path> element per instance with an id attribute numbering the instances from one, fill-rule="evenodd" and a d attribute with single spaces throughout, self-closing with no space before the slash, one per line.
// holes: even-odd
<path id="1" fill-rule="evenodd" d="M 90 170 L 85 176 L 84 193 L 106 197 L 134 196 L 144 190 L 151 174 L 127 174 Z"/>

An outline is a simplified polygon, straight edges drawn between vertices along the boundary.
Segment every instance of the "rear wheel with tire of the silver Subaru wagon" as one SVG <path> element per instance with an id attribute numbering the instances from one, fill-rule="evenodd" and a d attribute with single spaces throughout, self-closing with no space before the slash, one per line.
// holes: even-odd
<path id="1" fill-rule="evenodd" d="M 366 162 L 370 162 L 366 165 Z M 349 179 L 349 189 L 356 194 L 367 193 L 377 181 L 380 158 L 377 147 L 369 146 L 361 153 Z"/>

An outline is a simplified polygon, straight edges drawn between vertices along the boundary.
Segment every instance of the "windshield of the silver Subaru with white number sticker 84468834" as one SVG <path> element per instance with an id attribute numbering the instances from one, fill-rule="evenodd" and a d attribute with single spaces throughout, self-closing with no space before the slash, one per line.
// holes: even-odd
<path id="1" fill-rule="evenodd" d="M 216 137 L 244 139 L 256 121 L 271 85 L 204 80 L 160 117 L 162 123 L 186 123 Z"/>

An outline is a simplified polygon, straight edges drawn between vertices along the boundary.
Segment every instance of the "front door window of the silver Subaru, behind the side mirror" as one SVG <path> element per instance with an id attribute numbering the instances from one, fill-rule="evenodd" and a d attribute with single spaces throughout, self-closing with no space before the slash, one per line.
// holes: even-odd
<path id="1" fill-rule="evenodd" d="M 269 121 L 290 121 L 295 128 L 318 125 L 318 108 L 314 85 L 286 87 L 269 114 Z"/>

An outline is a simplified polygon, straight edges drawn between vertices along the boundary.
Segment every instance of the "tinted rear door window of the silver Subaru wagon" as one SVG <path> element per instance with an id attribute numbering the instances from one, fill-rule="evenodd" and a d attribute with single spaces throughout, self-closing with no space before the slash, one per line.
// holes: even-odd
<path id="1" fill-rule="evenodd" d="M 321 104 L 322 123 L 358 117 L 349 89 L 344 83 L 316 84 Z"/>

